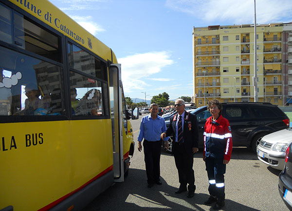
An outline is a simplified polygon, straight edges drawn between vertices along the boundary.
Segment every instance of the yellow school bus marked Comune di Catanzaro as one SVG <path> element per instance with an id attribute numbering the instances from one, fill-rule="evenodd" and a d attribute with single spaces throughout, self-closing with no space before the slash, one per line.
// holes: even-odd
<path id="1" fill-rule="evenodd" d="M 48 0 L 0 0 L 0 211 L 80 210 L 123 182 L 128 117 L 109 47 Z"/>

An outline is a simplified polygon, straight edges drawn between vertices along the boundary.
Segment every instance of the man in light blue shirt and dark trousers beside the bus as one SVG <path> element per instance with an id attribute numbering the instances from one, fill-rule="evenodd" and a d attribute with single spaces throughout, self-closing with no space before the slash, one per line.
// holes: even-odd
<path id="1" fill-rule="evenodd" d="M 146 165 L 146 175 L 148 188 L 156 183 L 162 185 L 160 180 L 160 154 L 161 138 L 160 135 L 166 131 L 165 121 L 157 115 L 158 105 L 150 105 L 150 115 L 144 116 L 140 124 L 138 136 L 138 150 L 142 150 L 142 140 L 144 146 L 144 160 Z M 164 139 L 164 147 L 168 149 L 168 138 Z"/>

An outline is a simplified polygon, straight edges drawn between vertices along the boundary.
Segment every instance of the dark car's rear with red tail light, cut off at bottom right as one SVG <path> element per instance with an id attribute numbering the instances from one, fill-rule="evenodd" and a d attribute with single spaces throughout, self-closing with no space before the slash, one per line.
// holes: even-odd
<path id="1" fill-rule="evenodd" d="M 279 174 L 278 190 L 286 206 L 292 210 L 292 144 L 285 152 L 285 166 Z"/>

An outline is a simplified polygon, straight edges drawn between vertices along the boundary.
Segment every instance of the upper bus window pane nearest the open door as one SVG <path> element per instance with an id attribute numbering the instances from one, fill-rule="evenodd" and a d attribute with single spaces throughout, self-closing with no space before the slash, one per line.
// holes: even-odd
<path id="1" fill-rule="evenodd" d="M 106 64 L 77 46 L 68 43 L 70 67 L 107 81 Z"/>

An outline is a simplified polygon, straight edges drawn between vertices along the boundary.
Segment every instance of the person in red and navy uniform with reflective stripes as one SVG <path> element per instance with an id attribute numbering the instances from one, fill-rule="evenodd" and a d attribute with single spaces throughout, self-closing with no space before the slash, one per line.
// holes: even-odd
<path id="1" fill-rule="evenodd" d="M 205 123 L 203 160 L 209 179 L 210 197 L 205 204 L 216 202 L 214 210 L 219 210 L 224 206 L 224 174 L 231 158 L 232 135 L 229 121 L 221 115 L 221 103 L 216 99 L 209 101 L 208 110 L 212 116 Z"/>

